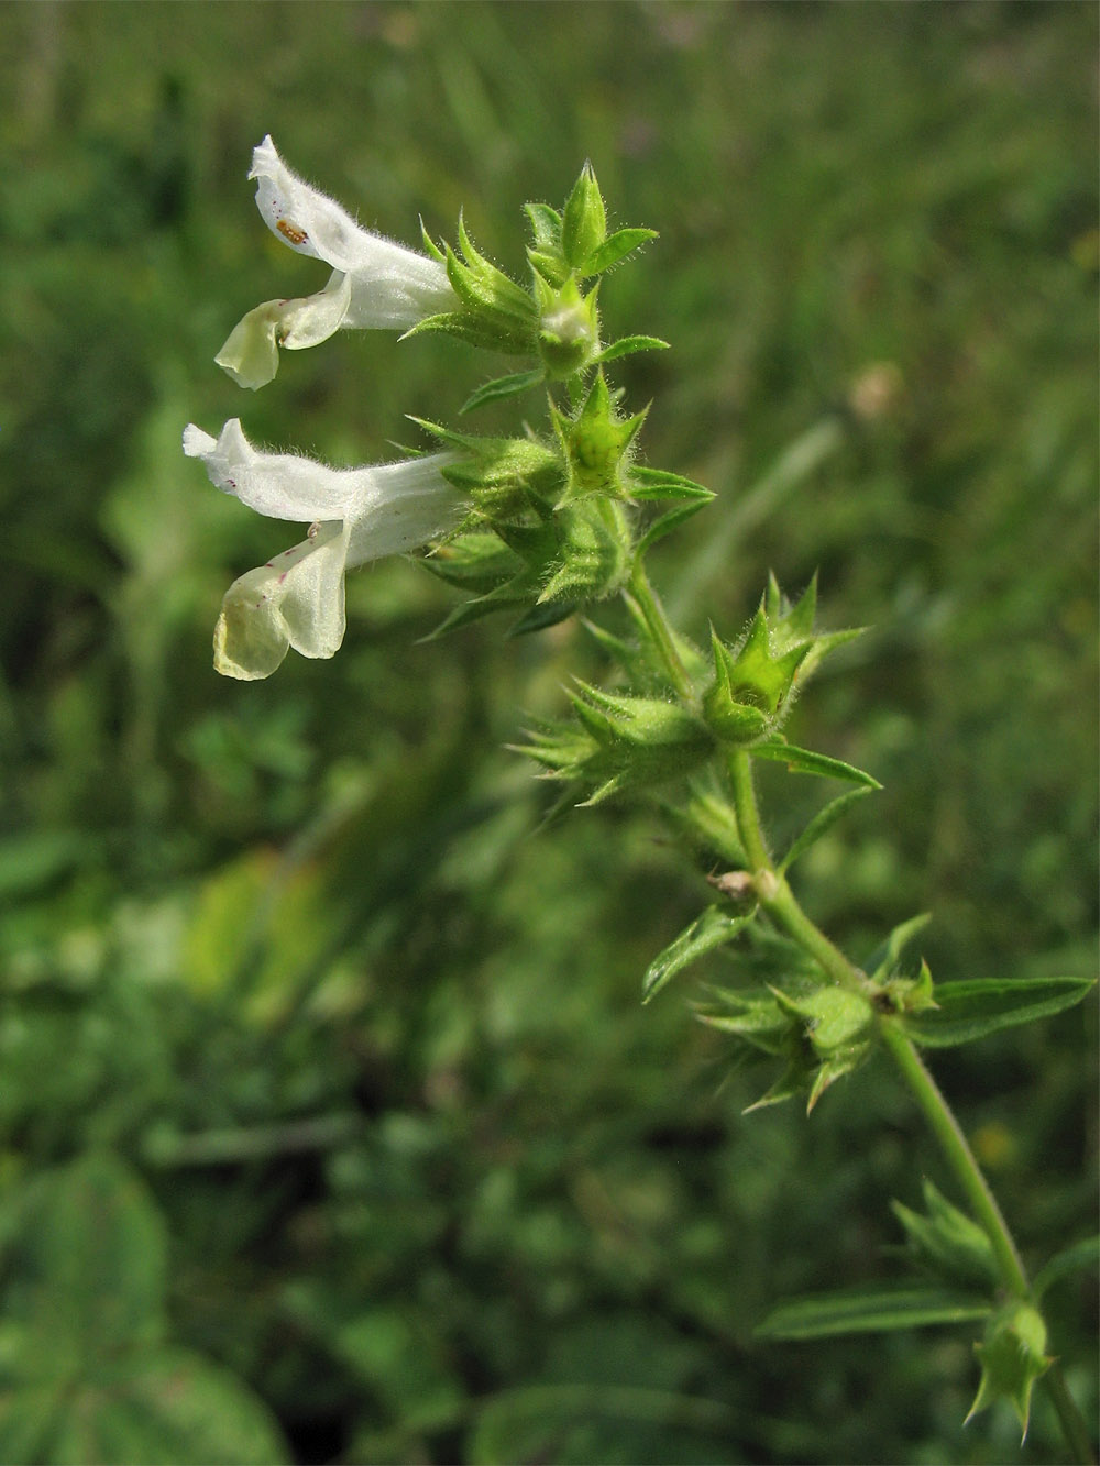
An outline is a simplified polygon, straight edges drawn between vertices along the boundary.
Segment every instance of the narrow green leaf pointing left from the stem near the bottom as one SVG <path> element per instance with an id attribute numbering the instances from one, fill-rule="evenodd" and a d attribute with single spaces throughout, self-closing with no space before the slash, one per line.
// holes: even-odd
<path id="1" fill-rule="evenodd" d="M 815 1293 L 774 1308 L 754 1330 L 757 1338 L 832 1338 L 930 1324 L 965 1324 L 993 1312 L 984 1297 L 943 1287 L 880 1284 Z"/>

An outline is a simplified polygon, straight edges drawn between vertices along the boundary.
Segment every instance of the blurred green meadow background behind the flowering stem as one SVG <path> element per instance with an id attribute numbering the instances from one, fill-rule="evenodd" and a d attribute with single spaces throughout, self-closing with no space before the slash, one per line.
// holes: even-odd
<path id="1" fill-rule="evenodd" d="M 857 959 L 931 909 L 942 979 L 1088 973 L 1096 53 L 1072 3 L 0 9 L 4 1459 L 1062 1459 L 1043 1400 L 1022 1453 L 962 1431 L 965 1331 L 754 1343 L 950 1183 L 884 1064 L 745 1119 L 689 990 L 639 1010 L 700 872 L 629 809 L 540 828 L 503 748 L 584 635 L 422 644 L 452 594 L 383 563 L 334 661 L 224 682 L 220 597 L 293 535 L 179 438 L 365 462 L 509 366 L 362 333 L 236 388 L 230 327 L 324 280 L 255 213 L 265 132 L 512 271 L 591 158 L 661 236 L 601 290 L 673 343 L 619 374 L 644 452 L 719 494 L 653 560 L 685 629 L 769 567 L 874 626 L 791 729 L 886 786 L 808 909 Z M 817 798 L 766 793 L 776 837 Z M 936 1064 L 1031 1264 L 1094 1226 L 1094 1025 Z M 1050 1305 L 1094 1413 L 1093 1292 Z"/>

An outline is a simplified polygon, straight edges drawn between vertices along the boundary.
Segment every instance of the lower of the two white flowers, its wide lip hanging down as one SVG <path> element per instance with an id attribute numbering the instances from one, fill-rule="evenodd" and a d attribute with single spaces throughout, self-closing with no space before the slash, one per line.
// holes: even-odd
<path id="1" fill-rule="evenodd" d="M 211 484 L 271 519 L 312 520 L 302 544 L 249 570 L 226 592 L 214 630 L 214 667 L 251 682 L 270 677 L 287 648 L 331 657 L 343 641 L 343 573 L 452 529 L 463 498 L 441 469 L 455 453 L 336 469 L 290 453 L 260 453 L 238 418 L 217 440 L 189 422 L 183 452 Z"/>

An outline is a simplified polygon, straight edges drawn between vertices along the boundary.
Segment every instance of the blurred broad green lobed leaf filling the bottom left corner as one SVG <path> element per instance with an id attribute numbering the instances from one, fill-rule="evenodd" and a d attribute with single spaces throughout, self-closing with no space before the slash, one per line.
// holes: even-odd
<path id="1" fill-rule="evenodd" d="M 265 1466 L 287 1450 L 235 1375 L 163 1343 L 166 1237 L 109 1154 L 9 1201 L 0 1460 Z"/>

